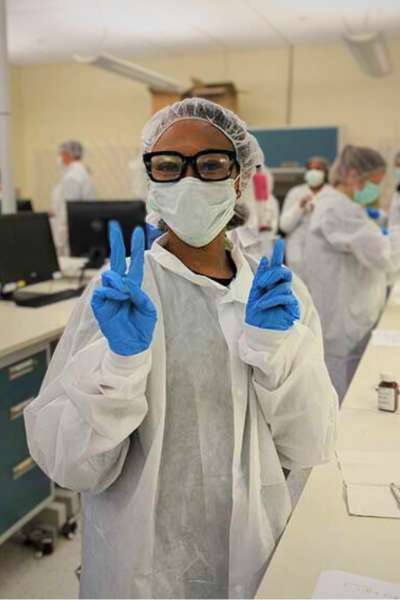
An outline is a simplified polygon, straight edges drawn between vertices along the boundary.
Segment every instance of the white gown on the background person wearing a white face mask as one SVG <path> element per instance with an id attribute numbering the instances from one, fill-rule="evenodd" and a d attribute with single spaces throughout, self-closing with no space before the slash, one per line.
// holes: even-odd
<path id="1" fill-rule="evenodd" d="M 303 279 L 304 247 L 313 208 L 332 189 L 326 184 L 319 192 L 314 193 L 306 183 L 297 185 L 289 190 L 282 206 L 280 228 L 286 233 L 286 263 L 289 269 Z M 312 204 L 308 205 L 307 209 L 302 209 L 300 203 L 307 196 L 312 196 Z"/>

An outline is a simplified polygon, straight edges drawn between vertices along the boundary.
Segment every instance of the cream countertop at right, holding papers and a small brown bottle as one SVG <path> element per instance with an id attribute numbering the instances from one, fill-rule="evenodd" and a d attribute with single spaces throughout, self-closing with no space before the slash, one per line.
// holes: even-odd
<path id="1" fill-rule="evenodd" d="M 379 323 L 400 329 L 391 300 Z M 340 412 L 338 450 L 400 452 L 400 411 L 379 412 L 381 372 L 400 380 L 400 348 L 369 344 Z M 349 516 L 336 460 L 313 469 L 271 560 L 258 598 L 311 598 L 321 571 L 400 582 L 400 519 Z"/>

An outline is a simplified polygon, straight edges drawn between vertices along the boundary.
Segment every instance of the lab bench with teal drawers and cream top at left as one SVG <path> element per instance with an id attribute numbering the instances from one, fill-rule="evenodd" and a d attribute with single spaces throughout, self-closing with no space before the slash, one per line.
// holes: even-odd
<path id="1" fill-rule="evenodd" d="M 0 301 L 0 544 L 54 498 L 29 455 L 23 411 L 38 394 L 76 299 L 43 308 Z"/>

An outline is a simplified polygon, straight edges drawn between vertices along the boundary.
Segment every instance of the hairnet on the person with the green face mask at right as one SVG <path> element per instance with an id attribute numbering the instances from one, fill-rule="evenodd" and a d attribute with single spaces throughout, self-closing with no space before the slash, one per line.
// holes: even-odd
<path id="1" fill-rule="evenodd" d="M 348 145 L 336 159 L 330 179 L 333 185 L 337 185 L 346 180 L 351 170 L 363 177 L 380 169 L 386 169 L 386 161 L 377 150 Z"/>

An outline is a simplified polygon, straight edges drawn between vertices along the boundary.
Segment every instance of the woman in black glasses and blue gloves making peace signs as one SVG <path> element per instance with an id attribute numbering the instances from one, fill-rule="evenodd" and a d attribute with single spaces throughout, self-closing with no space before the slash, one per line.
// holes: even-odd
<path id="1" fill-rule="evenodd" d="M 84 598 L 255 594 L 291 506 L 283 469 L 332 457 L 318 315 L 272 259 L 227 252 L 254 168 L 245 124 L 200 98 L 143 132 L 167 232 L 88 288 L 25 412 L 35 461 L 83 494 Z M 254 275 L 254 270 L 256 274 Z"/>

